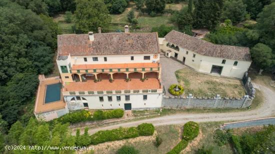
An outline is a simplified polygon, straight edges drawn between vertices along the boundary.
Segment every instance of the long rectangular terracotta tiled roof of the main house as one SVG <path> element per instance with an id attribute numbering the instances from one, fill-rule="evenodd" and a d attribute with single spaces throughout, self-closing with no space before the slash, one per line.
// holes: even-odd
<path id="1" fill-rule="evenodd" d="M 158 36 L 152 33 L 95 33 L 57 35 L 58 55 L 110 55 L 159 53 Z"/>

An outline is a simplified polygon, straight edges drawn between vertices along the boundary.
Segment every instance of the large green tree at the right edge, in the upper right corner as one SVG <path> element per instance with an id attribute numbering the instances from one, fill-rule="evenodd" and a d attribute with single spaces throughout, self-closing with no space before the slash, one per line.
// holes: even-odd
<path id="1" fill-rule="evenodd" d="M 275 53 L 275 2 L 265 5 L 258 14 L 256 28 L 259 32 L 260 42 L 267 44 Z"/>

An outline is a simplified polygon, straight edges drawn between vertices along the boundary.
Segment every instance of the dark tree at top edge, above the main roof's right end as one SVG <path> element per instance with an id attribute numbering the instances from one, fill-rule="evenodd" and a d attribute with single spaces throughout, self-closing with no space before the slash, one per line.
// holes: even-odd
<path id="1" fill-rule="evenodd" d="M 148 12 L 161 13 L 165 8 L 165 0 L 145 0 Z"/>

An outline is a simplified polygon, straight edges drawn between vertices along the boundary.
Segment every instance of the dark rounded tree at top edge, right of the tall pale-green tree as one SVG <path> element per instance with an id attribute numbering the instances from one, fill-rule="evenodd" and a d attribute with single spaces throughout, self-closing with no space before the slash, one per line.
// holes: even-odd
<path id="1" fill-rule="evenodd" d="M 104 0 L 110 13 L 122 13 L 128 5 L 128 0 Z"/>

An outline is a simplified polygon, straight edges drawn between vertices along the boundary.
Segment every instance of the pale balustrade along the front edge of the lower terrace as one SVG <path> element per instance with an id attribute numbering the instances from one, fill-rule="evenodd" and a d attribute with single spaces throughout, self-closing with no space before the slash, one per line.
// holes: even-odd
<path id="1" fill-rule="evenodd" d="M 63 91 L 63 96 L 74 95 L 110 95 L 110 94 L 144 94 L 162 93 L 162 89 L 143 89 L 143 90 L 107 90 L 107 91 Z"/>

